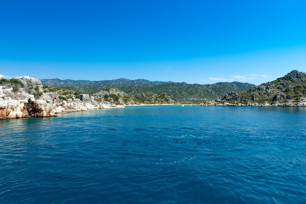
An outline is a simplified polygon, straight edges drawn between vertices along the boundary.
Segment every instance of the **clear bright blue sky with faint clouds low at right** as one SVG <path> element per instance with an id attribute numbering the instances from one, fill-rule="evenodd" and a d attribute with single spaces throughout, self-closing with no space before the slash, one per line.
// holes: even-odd
<path id="1" fill-rule="evenodd" d="M 259 85 L 306 72 L 305 0 L 0 0 L 0 74 Z"/>

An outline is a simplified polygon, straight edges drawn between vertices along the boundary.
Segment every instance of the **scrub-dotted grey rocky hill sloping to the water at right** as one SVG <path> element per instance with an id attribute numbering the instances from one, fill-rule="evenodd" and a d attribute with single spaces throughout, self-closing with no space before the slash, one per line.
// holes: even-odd
<path id="1" fill-rule="evenodd" d="M 306 74 L 293 70 L 284 77 L 249 91 L 231 91 L 219 100 L 205 101 L 200 105 L 306 107 Z"/>

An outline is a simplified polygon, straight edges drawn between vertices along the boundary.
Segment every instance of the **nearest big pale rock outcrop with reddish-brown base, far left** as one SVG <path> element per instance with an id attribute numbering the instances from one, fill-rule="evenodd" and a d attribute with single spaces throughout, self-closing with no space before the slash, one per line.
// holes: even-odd
<path id="1" fill-rule="evenodd" d="M 56 114 L 58 94 L 44 93 L 39 80 L 23 76 L 11 81 L 1 81 L 0 84 L 0 119 Z"/>

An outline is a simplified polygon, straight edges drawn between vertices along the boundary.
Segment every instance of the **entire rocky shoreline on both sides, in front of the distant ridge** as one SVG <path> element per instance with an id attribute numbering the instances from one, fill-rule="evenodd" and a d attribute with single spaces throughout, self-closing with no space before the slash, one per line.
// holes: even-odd
<path id="1" fill-rule="evenodd" d="M 222 99 L 205 101 L 199 106 L 306 107 L 305 82 L 306 74 L 293 70 L 273 82 L 264 83 L 246 92 L 231 91 Z M 44 88 L 40 80 L 29 76 L 7 80 L 0 75 L 0 119 L 49 117 L 56 116 L 57 113 L 161 105 L 182 104 L 167 93 L 147 92 L 131 97 L 118 89 L 99 91 L 91 95 L 63 95 L 47 85 Z"/>

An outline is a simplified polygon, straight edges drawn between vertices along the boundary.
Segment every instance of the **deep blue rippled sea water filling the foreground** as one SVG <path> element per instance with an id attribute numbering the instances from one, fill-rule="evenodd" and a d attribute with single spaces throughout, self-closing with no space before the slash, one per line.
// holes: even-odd
<path id="1" fill-rule="evenodd" d="M 150 106 L 0 120 L 1 204 L 305 204 L 306 109 Z"/>

